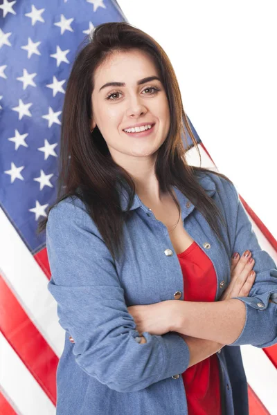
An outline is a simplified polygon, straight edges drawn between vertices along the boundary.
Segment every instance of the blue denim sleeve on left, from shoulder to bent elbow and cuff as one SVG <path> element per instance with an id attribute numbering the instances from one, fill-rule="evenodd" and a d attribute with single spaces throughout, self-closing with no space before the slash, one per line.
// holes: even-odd
<path id="1" fill-rule="evenodd" d="M 184 372 L 189 349 L 178 333 L 143 333 L 127 311 L 123 287 L 107 246 L 82 205 L 58 203 L 48 215 L 48 290 L 60 325 L 74 339 L 75 362 L 116 391 L 138 391 Z M 130 276 L 132 277 L 132 276 Z"/>

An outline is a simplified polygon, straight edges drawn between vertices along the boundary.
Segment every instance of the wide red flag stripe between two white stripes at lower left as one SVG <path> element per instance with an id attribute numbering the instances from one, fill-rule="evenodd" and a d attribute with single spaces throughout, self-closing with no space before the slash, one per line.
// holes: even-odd
<path id="1" fill-rule="evenodd" d="M 1 275 L 0 330 L 55 405 L 55 376 L 59 359 L 21 307 Z"/>

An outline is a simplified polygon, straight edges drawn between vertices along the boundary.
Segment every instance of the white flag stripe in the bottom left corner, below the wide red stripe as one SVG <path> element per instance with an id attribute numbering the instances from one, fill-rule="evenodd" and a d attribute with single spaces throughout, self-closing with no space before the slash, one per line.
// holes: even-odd
<path id="1" fill-rule="evenodd" d="M 0 333 L 0 385 L 22 415 L 55 415 L 55 406 Z"/>

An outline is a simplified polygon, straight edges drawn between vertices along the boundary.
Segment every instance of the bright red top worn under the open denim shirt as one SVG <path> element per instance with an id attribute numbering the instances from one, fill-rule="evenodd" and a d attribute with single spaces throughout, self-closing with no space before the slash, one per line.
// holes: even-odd
<path id="1" fill-rule="evenodd" d="M 184 300 L 215 301 L 217 278 L 211 259 L 194 241 L 177 254 L 184 277 Z M 220 368 L 216 354 L 186 369 L 182 374 L 188 415 L 220 415 Z"/>

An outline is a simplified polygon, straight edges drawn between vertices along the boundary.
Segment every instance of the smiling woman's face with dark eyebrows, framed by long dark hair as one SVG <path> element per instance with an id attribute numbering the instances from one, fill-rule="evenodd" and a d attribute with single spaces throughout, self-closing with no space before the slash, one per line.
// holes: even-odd
<path id="1" fill-rule="evenodd" d="M 154 76 L 159 77 L 152 59 L 140 50 L 114 53 L 94 74 L 90 127 L 98 126 L 119 165 L 124 166 L 134 157 L 152 157 L 168 135 L 170 111 L 161 81 L 139 83 Z M 109 82 L 124 85 L 105 86 Z M 140 123 L 154 124 L 152 132 L 135 137 L 123 131 Z"/>

